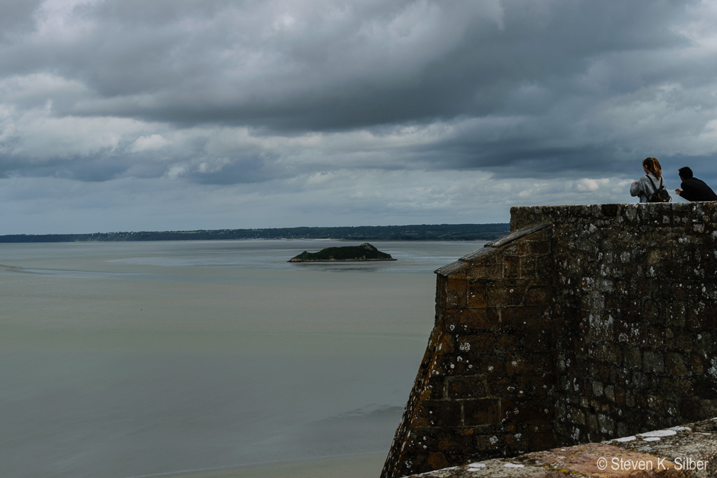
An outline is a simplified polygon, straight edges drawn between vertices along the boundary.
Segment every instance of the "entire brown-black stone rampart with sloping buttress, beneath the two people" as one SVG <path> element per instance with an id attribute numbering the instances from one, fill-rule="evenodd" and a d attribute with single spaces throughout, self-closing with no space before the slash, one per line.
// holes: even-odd
<path id="1" fill-rule="evenodd" d="M 513 208 L 437 272 L 383 477 L 717 415 L 717 204 Z"/>

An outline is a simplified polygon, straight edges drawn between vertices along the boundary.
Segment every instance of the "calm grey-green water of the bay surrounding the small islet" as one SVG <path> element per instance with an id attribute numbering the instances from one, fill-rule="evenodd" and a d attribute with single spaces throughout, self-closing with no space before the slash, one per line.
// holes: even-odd
<path id="1" fill-rule="evenodd" d="M 286 262 L 354 244 L 0 244 L 2 476 L 365 454 L 351 476 L 376 477 L 432 328 L 432 271 L 483 243 Z"/>

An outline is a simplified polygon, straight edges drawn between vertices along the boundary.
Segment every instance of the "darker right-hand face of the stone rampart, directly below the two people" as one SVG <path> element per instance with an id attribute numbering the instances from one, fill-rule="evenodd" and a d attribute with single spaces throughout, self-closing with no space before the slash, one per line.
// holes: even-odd
<path id="1" fill-rule="evenodd" d="M 559 441 L 602 441 L 717 415 L 717 204 L 516 208 L 551 220 Z"/>

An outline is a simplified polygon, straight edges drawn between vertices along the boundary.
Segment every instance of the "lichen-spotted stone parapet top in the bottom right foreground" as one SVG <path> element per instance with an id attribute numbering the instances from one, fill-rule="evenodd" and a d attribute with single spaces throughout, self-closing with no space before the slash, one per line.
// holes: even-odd
<path id="1" fill-rule="evenodd" d="M 635 436 L 534 451 L 423 474 L 422 478 L 715 477 L 717 418 Z"/>

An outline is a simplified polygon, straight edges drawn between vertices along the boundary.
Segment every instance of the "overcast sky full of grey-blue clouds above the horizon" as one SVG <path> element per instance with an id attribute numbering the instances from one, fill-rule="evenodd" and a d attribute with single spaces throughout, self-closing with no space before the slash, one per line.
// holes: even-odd
<path id="1" fill-rule="evenodd" d="M 508 222 L 717 186 L 717 2 L 0 0 L 0 234 Z M 682 199 L 675 199 L 683 201 Z"/>

